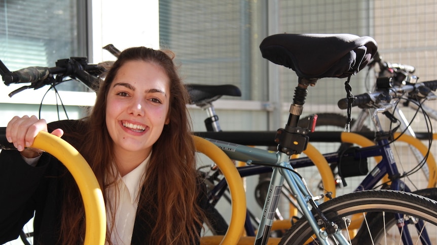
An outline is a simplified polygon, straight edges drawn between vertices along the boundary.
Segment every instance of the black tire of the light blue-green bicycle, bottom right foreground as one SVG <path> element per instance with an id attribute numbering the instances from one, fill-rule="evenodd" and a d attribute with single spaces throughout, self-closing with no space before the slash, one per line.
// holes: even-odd
<path id="1" fill-rule="evenodd" d="M 363 190 L 353 192 L 324 202 L 319 206 L 323 214 L 334 222 L 341 221 L 343 217 L 353 214 L 367 213 L 366 217 L 368 217 L 372 212 L 384 211 L 385 213 L 411 215 L 429 222 L 427 225 L 437 226 L 436 207 L 437 202 L 434 200 L 414 193 L 395 190 Z M 317 218 L 317 215 L 315 217 Z M 305 218 L 301 218 L 284 234 L 279 244 L 305 244 L 313 235 L 314 232 L 308 221 Z M 363 237 L 355 236 L 352 244 L 358 241 L 357 239 L 363 239 Z M 359 243 L 357 242 L 356 244 L 372 243 L 362 243 L 359 240 Z"/>

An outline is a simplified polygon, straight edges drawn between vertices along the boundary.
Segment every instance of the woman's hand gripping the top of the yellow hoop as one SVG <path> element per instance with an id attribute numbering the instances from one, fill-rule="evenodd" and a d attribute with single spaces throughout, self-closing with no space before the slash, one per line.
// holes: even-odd
<path id="1" fill-rule="evenodd" d="M 48 131 L 46 120 L 38 119 L 36 116 L 15 116 L 6 127 L 6 138 L 14 144 L 21 155 L 26 158 L 34 158 L 41 155 L 42 151 L 29 147 L 40 131 Z M 64 132 L 58 128 L 53 130 L 52 134 L 61 137 Z"/>

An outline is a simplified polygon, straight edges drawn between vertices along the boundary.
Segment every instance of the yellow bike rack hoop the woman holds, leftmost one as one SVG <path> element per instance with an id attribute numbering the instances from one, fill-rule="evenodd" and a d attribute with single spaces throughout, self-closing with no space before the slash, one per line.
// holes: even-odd
<path id="1" fill-rule="evenodd" d="M 82 194 L 85 206 L 86 245 L 104 245 L 106 236 L 106 211 L 103 194 L 91 167 L 79 152 L 65 140 L 40 132 L 31 146 L 46 151 L 70 171 Z"/>

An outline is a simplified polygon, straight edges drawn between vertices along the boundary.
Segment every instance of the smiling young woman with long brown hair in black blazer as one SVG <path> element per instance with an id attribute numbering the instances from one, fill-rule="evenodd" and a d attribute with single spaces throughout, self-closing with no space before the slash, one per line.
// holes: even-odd
<path id="1" fill-rule="evenodd" d="M 88 117 L 10 121 L 6 134 L 18 151 L 0 154 L 0 178 L 16 187 L 0 186 L 9 201 L 0 209 L 1 243 L 16 238 L 33 212 L 35 243 L 83 242 L 84 207 L 71 175 L 48 154 L 25 148 L 49 130 L 93 169 L 106 205 L 107 244 L 199 243 L 207 201 L 196 172 L 188 94 L 173 58 L 128 48 L 108 71 Z"/>

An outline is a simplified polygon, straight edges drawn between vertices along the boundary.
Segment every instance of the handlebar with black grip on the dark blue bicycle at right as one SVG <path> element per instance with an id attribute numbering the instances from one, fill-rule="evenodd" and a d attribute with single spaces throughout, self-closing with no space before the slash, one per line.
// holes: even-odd
<path id="1" fill-rule="evenodd" d="M 367 92 L 355 96 L 352 102 L 352 107 L 358 106 L 360 108 L 372 107 L 371 104 L 379 103 L 380 101 L 389 102 L 397 94 L 417 92 L 420 97 L 426 97 L 430 91 L 437 89 L 437 80 L 419 82 L 416 84 L 408 84 L 404 86 L 395 86 L 389 89 L 380 89 L 375 92 Z M 344 98 L 338 101 L 337 105 L 340 109 L 347 109 L 348 99 Z"/>

